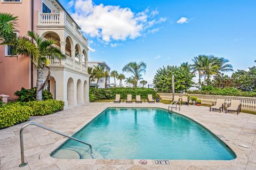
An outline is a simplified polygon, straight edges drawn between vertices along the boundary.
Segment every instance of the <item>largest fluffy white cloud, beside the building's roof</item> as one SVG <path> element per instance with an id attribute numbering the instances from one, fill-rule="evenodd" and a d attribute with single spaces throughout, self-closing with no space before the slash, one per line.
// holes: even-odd
<path id="1" fill-rule="evenodd" d="M 92 0 L 76 0 L 72 14 L 82 31 L 105 42 L 139 37 L 154 24 L 166 21 L 155 19 L 157 10 L 135 13 L 130 8 L 113 5 L 97 5 Z"/>

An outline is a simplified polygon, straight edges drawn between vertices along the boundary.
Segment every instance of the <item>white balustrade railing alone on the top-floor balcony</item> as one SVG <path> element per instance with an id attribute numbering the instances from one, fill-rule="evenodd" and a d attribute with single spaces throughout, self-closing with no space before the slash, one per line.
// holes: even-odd
<path id="1" fill-rule="evenodd" d="M 86 46 L 88 45 L 87 39 L 83 37 L 82 32 L 77 28 L 75 22 L 69 18 L 65 11 L 60 11 L 60 13 L 41 13 L 38 11 L 37 25 L 47 27 L 65 26 L 75 37 L 81 40 L 83 44 Z"/>

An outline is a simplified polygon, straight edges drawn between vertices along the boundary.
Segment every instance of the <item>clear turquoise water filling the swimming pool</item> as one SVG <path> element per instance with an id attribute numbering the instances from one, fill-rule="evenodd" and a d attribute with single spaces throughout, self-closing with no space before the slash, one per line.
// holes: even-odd
<path id="1" fill-rule="evenodd" d="M 202 125 L 159 108 L 108 108 L 74 137 L 92 145 L 95 159 L 236 158 L 231 149 Z M 82 159 L 91 159 L 89 147 L 74 140 L 67 140 L 51 156 L 66 158 L 61 153 L 67 156 L 68 151 L 77 152 Z"/>

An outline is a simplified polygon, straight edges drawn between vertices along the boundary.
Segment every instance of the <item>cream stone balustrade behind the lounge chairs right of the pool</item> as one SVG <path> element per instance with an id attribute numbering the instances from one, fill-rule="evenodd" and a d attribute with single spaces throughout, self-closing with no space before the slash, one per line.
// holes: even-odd
<path id="1" fill-rule="evenodd" d="M 163 100 L 172 100 L 172 93 L 158 93 L 160 98 Z M 217 95 L 198 95 L 198 94 L 175 94 L 179 96 L 195 96 L 197 99 L 201 100 L 202 104 L 212 105 L 216 99 L 225 99 L 226 103 L 230 103 L 231 100 L 240 100 L 242 104 L 242 109 L 254 111 L 256 110 L 256 97 L 238 97 L 238 96 L 217 96 Z"/>

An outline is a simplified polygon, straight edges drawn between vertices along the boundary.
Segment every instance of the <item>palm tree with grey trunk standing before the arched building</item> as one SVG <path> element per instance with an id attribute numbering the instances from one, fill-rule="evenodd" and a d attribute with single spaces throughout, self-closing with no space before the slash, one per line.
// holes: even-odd
<path id="1" fill-rule="evenodd" d="M 28 38 L 17 38 L 14 44 L 12 54 L 13 55 L 23 55 L 23 54 L 29 54 L 27 49 L 23 49 L 20 44 L 22 41 L 26 41 L 24 43 L 32 43 L 34 45 L 34 48 L 38 50 L 38 54 L 36 55 L 31 55 L 30 59 L 32 63 L 35 66 L 35 69 L 37 71 L 37 81 L 36 81 L 36 99 L 37 100 L 42 100 L 42 92 L 45 84 L 47 81 L 50 79 L 50 59 L 57 59 L 57 60 L 65 60 L 66 55 L 62 54 L 60 49 L 57 47 L 53 47 L 54 44 L 57 44 L 57 41 L 54 39 L 43 39 L 40 37 L 37 33 L 33 31 L 28 31 L 27 36 L 32 38 L 35 43 L 33 44 Z M 44 76 L 43 76 L 43 69 L 44 68 L 48 69 L 48 75 L 46 80 L 44 81 Z"/>

